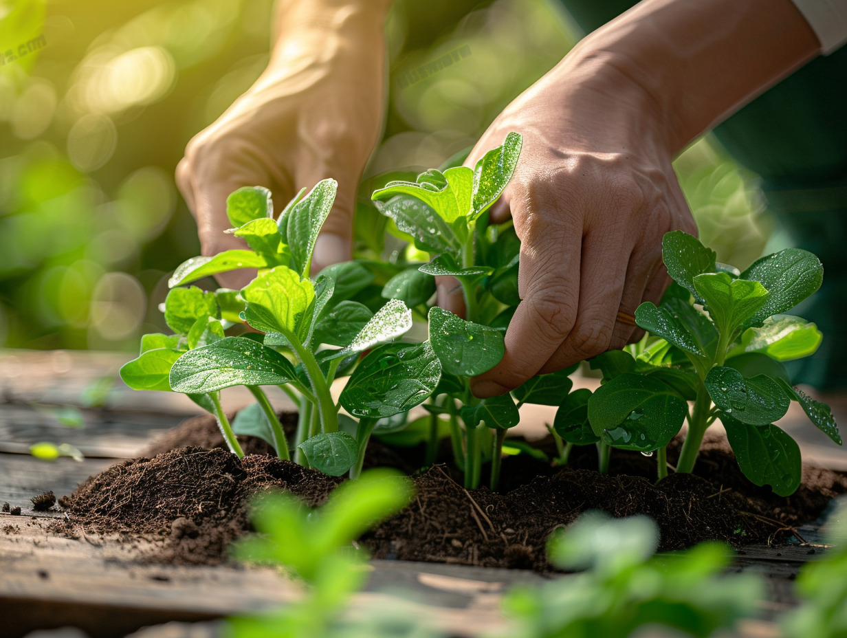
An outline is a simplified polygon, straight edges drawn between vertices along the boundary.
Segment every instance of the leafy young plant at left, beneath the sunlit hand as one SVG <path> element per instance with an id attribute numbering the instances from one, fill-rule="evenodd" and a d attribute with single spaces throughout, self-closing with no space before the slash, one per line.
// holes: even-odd
<path id="1" fill-rule="evenodd" d="M 435 389 L 440 366 L 426 344 L 376 348 L 353 372 L 352 390 L 366 385 L 375 362 L 390 374 L 368 386 L 367 405 L 352 433 L 339 428 L 339 405 L 329 392 L 336 377 L 357 366 L 362 352 L 392 341 L 412 326 L 412 313 L 391 300 L 374 313 L 354 301 L 373 280 L 362 264 L 336 264 L 309 278 L 318 231 L 335 200 L 335 180 L 323 180 L 305 197 L 301 191 L 274 219 L 263 188 L 241 188 L 227 199 L 235 236 L 252 250 L 230 250 L 192 258 L 170 279 L 165 320 L 175 335 L 148 335 L 141 356 L 121 369 L 130 387 L 184 392 L 215 414 L 230 449 L 242 455 L 235 431 L 221 407 L 219 392 L 246 386 L 257 399 L 236 422 L 241 433 L 263 436 L 280 458 L 289 444 L 261 386 L 279 386 L 300 406 L 295 460 L 326 474 L 361 469 L 364 447 L 379 418 L 423 402 Z M 208 275 L 256 268 L 257 276 L 241 291 L 204 292 L 180 287 Z M 224 336 L 224 328 L 243 323 L 256 332 Z M 261 331 L 261 332 L 258 332 Z M 423 377 L 422 371 L 426 371 Z M 424 379 L 422 382 L 421 379 Z M 385 384 L 390 380 L 390 384 Z M 342 400 L 342 402 L 344 402 Z M 263 418 L 259 413 L 263 414 Z"/>

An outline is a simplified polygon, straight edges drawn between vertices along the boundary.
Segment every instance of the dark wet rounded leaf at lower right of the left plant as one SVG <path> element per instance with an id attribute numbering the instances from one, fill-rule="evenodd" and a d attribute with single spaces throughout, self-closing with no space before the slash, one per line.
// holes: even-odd
<path id="1" fill-rule="evenodd" d="M 368 353 L 347 381 L 340 403 L 362 418 L 381 419 L 406 412 L 438 386 L 441 364 L 429 341 L 390 343 Z"/>

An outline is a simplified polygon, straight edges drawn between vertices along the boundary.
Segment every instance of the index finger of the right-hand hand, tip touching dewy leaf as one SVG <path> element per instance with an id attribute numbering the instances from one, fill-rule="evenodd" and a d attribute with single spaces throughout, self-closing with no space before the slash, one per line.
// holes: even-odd
<path id="1" fill-rule="evenodd" d="M 533 376 L 565 340 L 576 318 L 581 229 L 562 219 L 536 221 L 539 217 L 533 217 L 529 206 L 522 208 L 516 219 L 528 220 L 519 229 L 523 243 L 518 289 L 523 301 L 509 324 L 501 362 L 471 381 L 477 397 L 501 395 Z"/>

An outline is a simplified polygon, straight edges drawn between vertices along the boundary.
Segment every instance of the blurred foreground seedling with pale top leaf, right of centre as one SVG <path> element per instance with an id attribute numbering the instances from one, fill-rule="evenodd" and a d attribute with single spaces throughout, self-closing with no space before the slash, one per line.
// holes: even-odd
<path id="1" fill-rule="evenodd" d="M 755 614 L 761 580 L 723 575 L 726 546 L 654 556 L 657 543 L 657 526 L 646 517 L 584 514 L 548 545 L 557 568 L 584 571 L 510 591 L 503 607 L 512 627 L 503 635 L 627 638 L 658 624 L 706 638 Z"/>

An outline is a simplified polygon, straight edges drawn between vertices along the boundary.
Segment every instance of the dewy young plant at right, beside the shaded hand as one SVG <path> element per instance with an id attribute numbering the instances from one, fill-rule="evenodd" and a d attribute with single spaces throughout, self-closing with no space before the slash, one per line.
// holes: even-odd
<path id="1" fill-rule="evenodd" d="M 604 369 L 606 382 L 588 400 L 591 430 L 612 447 L 658 452 L 662 478 L 665 447 L 684 421 L 689 431 L 678 472 L 693 469 L 706 429 L 720 419 L 745 475 L 792 494 L 800 485 L 800 448 L 773 424 L 789 402 L 800 402 L 811 422 L 841 444 L 828 406 L 794 388 L 782 364 L 820 344 L 814 324 L 783 313 L 821 285 L 821 263 L 789 248 L 739 273 L 682 231 L 667 233 L 662 256 L 674 283 L 658 307 L 645 302 L 635 311 L 652 336 L 628 354 L 615 353 Z"/>

